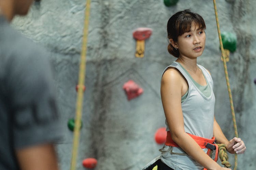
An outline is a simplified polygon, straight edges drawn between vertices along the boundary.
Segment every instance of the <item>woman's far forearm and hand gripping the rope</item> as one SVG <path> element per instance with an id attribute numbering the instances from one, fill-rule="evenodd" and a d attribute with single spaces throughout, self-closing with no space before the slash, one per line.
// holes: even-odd
<path id="1" fill-rule="evenodd" d="M 244 142 L 240 138 L 234 137 L 233 139 L 228 141 L 228 139 L 223 134 L 221 127 L 217 123 L 215 117 L 213 123 L 213 136 L 215 136 L 217 143 L 223 143 L 226 145 L 226 149 L 229 153 L 236 152 L 237 154 L 243 154 L 246 150 Z"/>

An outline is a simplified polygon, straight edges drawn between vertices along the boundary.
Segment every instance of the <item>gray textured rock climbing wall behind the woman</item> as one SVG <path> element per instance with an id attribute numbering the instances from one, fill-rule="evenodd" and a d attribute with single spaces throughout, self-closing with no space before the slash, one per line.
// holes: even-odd
<path id="1" fill-rule="evenodd" d="M 155 131 L 164 126 L 160 99 L 163 69 L 174 57 L 167 52 L 166 24 L 169 17 L 186 8 L 201 14 L 207 30 L 206 48 L 198 63 L 210 70 L 216 97 L 215 117 L 228 139 L 234 136 L 212 1 L 180 0 L 166 7 L 162 0 L 92 0 L 77 169 L 82 160 L 95 157 L 96 170 L 137 170 L 158 156 L 161 145 Z M 238 169 L 254 170 L 256 86 L 256 8 L 254 0 L 217 0 L 221 31 L 235 33 L 237 50 L 227 63 L 238 125 L 247 151 L 238 156 Z M 27 17 L 16 17 L 13 27 L 52 52 L 64 140 L 57 145 L 59 163 L 70 168 L 73 133 L 67 121 L 75 115 L 84 0 L 42 0 Z M 134 56 L 132 31 L 153 29 L 145 42 L 145 57 Z M 144 93 L 128 101 L 122 89 L 132 79 Z M 233 155 L 230 155 L 233 164 Z"/>

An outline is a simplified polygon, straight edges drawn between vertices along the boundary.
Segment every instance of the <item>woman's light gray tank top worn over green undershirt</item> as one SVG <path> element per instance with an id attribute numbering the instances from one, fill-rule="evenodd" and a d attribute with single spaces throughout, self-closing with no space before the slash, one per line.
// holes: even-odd
<path id="1" fill-rule="evenodd" d="M 209 72 L 200 65 L 197 65 L 203 72 L 203 75 L 211 88 L 211 95 L 205 97 L 198 89 L 190 76 L 184 71 L 181 65 L 173 62 L 168 66 L 178 69 L 188 82 L 188 94 L 181 103 L 184 118 L 184 129 L 186 133 L 211 139 L 213 137 L 214 105 L 215 97 L 213 94 L 213 80 Z M 166 131 L 169 131 L 166 123 Z M 203 149 L 207 153 L 207 149 Z M 161 160 L 173 169 L 203 169 L 194 159 L 187 155 L 181 148 L 164 146 L 161 149 Z"/>

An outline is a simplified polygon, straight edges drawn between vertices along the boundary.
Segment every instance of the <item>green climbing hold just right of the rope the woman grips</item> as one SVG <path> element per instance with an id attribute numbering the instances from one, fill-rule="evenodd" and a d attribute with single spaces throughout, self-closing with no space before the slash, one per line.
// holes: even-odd
<path id="1" fill-rule="evenodd" d="M 223 48 L 234 52 L 237 49 L 237 36 L 230 32 L 221 33 Z"/>

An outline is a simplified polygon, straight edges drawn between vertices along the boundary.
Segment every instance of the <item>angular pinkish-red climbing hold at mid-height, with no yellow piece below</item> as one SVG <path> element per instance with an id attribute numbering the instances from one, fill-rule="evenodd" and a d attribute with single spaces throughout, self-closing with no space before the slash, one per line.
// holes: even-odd
<path id="1" fill-rule="evenodd" d="M 129 80 L 123 85 L 123 89 L 126 92 L 128 100 L 136 98 L 143 93 L 143 89 L 134 81 Z"/>

